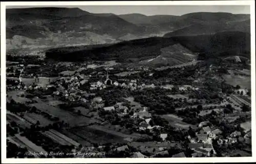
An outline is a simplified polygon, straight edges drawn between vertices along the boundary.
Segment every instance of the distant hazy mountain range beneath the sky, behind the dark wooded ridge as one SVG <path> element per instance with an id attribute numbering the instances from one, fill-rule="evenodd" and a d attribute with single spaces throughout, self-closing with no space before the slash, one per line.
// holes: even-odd
<path id="1" fill-rule="evenodd" d="M 7 49 L 106 44 L 147 37 L 250 32 L 250 15 L 94 14 L 79 8 L 6 9 Z"/>

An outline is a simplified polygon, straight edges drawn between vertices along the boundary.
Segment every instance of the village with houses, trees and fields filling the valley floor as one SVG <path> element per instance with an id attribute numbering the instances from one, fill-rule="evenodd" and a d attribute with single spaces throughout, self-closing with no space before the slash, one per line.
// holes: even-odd
<path id="1" fill-rule="evenodd" d="M 44 77 L 46 67 L 57 76 Z M 31 69 L 38 74 L 30 74 Z M 174 73 L 165 78 L 164 71 L 152 67 L 112 61 L 7 62 L 7 151 L 18 147 L 18 157 L 26 151 L 103 151 L 97 157 L 136 158 L 250 156 L 249 88 L 206 86 L 199 77 L 215 76 L 219 67 L 205 69 L 200 63 L 167 71 L 184 69 L 200 73 L 171 82 Z M 248 77 L 246 71 L 239 74 Z M 88 157 L 77 154 L 73 157 Z"/>

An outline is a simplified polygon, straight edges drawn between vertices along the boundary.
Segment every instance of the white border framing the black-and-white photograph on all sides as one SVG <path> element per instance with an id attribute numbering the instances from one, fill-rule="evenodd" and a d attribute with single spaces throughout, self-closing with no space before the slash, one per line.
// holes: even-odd
<path id="1" fill-rule="evenodd" d="M 82 6 L 82 5 L 248 5 L 251 14 L 251 131 L 252 157 L 207 157 L 207 158 L 6 158 L 6 6 Z M 142 162 L 255 162 L 256 161 L 256 129 L 255 129 L 255 6 L 254 1 L 150 1 L 150 2 L 1 2 L 1 152 L 3 163 L 142 163 Z"/>

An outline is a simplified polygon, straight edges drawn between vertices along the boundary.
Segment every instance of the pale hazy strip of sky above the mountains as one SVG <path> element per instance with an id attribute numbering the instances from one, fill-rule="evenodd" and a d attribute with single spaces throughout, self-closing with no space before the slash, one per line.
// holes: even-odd
<path id="1" fill-rule="evenodd" d="M 31 7 L 31 6 L 30 6 Z M 91 13 L 144 15 L 183 15 L 192 12 L 229 12 L 233 14 L 250 14 L 250 6 L 33 6 L 33 7 L 78 7 Z M 7 8 L 28 8 L 28 6 L 11 6 Z"/>

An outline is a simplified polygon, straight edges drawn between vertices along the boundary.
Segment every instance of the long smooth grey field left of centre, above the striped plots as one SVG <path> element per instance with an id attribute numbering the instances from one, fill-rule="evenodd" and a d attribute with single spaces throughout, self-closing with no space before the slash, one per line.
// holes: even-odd
<path id="1" fill-rule="evenodd" d="M 70 127 L 81 126 L 81 125 L 98 122 L 95 119 L 89 119 L 89 118 L 86 118 L 85 116 L 77 115 L 72 112 L 47 105 L 46 103 L 35 103 L 35 104 L 30 104 L 30 106 L 35 106 L 40 111 L 44 111 L 51 115 L 57 116 L 60 121 L 63 120 L 69 123 Z"/>

